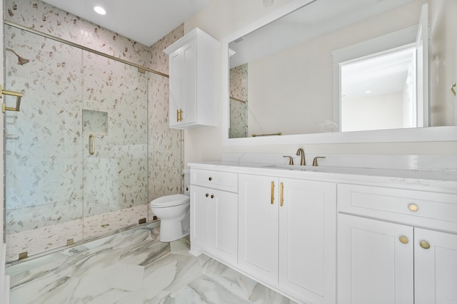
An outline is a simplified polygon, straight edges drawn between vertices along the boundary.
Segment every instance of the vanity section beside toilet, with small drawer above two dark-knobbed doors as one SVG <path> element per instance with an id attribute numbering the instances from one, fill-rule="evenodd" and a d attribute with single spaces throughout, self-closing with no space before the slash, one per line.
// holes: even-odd
<path id="1" fill-rule="evenodd" d="M 191 169 L 191 252 L 236 265 L 238 174 Z"/>

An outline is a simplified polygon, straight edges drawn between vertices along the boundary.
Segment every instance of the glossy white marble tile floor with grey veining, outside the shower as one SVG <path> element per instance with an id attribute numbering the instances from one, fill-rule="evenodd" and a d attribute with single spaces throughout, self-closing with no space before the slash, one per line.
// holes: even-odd
<path id="1" fill-rule="evenodd" d="M 7 266 L 11 304 L 295 303 L 151 227 Z"/>

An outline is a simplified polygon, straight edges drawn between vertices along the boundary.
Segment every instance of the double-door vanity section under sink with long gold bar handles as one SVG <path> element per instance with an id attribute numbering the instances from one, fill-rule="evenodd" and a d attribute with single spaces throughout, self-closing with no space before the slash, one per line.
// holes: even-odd
<path id="1" fill-rule="evenodd" d="M 336 184 L 238 181 L 238 268 L 303 303 L 335 303 Z"/>

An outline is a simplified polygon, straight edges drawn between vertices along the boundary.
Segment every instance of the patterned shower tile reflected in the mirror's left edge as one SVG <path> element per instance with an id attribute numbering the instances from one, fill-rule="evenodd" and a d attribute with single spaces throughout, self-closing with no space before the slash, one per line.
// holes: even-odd
<path id="1" fill-rule="evenodd" d="M 248 136 L 248 64 L 230 69 L 230 138 Z"/>

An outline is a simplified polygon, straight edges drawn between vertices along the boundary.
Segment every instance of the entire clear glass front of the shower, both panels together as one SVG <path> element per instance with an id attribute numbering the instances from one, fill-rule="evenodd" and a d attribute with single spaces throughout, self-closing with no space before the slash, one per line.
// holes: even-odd
<path id="1" fill-rule="evenodd" d="M 8 260 L 146 221 L 148 72 L 9 25 L 4 65 Z"/>

